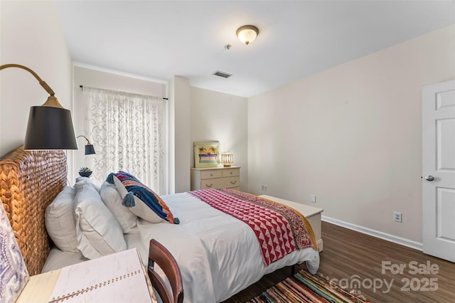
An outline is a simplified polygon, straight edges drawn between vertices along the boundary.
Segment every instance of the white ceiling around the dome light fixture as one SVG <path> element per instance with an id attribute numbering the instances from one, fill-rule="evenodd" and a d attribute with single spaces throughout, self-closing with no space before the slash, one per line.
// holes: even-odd
<path id="1" fill-rule="evenodd" d="M 451 1 L 56 1 L 73 62 L 250 97 L 455 23 Z M 252 24 L 249 46 L 235 31 Z M 455 38 L 455 37 L 454 37 Z M 225 50 L 230 44 L 232 48 Z M 437 47 L 437 46 L 435 46 Z M 216 70 L 232 74 L 225 79 Z"/>

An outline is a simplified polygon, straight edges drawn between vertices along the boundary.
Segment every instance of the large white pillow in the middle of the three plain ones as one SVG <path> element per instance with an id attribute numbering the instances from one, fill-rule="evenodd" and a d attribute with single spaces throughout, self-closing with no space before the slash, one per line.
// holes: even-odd
<path id="1" fill-rule="evenodd" d="M 76 188 L 77 248 L 89 259 L 127 249 L 122 226 L 89 182 Z"/>

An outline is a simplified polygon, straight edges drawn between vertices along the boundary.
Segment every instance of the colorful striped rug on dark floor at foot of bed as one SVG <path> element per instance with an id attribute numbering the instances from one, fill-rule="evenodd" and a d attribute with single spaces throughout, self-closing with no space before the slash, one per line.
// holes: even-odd
<path id="1" fill-rule="evenodd" d="M 252 303 L 287 303 L 287 302 L 370 302 L 363 296 L 355 296 L 345 289 L 329 282 L 320 275 L 311 275 L 305 270 L 294 277 L 279 282 L 259 296 L 250 300 Z"/>

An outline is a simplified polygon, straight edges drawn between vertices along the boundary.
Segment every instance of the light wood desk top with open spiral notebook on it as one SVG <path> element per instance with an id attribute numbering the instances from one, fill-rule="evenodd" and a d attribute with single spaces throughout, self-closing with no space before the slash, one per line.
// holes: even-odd
<path id="1" fill-rule="evenodd" d="M 147 280 L 136 248 L 63 267 L 58 277 L 51 272 L 36 275 L 21 293 L 33 295 L 42 287 L 52 289 L 45 302 L 154 302 L 153 290 Z M 42 277 L 40 277 L 42 276 Z M 53 277 L 51 277 L 53 276 Z M 41 282 L 40 282 L 41 280 Z M 30 281 L 29 281 L 30 282 Z M 19 299 L 21 299 L 19 297 Z M 19 300 L 20 301 L 20 300 Z"/>

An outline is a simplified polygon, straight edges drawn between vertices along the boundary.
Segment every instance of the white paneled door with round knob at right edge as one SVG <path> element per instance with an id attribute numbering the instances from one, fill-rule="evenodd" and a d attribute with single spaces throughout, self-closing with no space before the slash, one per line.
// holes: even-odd
<path id="1" fill-rule="evenodd" d="M 422 89 L 423 250 L 455 262 L 455 80 Z"/>

